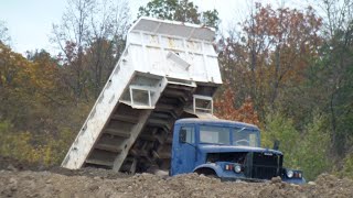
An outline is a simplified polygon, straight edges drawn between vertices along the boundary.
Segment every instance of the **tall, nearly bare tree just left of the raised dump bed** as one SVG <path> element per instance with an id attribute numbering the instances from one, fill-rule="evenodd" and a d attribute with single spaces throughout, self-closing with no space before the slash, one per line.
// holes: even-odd
<path id="1" fill-rule="evenodd" d="M 128 28 L 126 1 L 68 0 L 52 41 L 61 50 L 63 78 L 76 102 L 98 96 L 122 53 Z"/>

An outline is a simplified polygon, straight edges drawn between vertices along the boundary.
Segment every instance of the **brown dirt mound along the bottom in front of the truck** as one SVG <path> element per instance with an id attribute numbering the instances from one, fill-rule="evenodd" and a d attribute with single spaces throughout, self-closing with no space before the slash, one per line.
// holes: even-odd
<path id="1" fill-rule="evenodd" d="M 268 183 L 222 183 L 196 174 L 160 177 L 151 174 L 113 174 L 86 168 L 79 172 L 0 170 L 0 197 L 352 197 L 353 182 L 321 175 L 298 186 Z M 60 174 L 58 174 L 60 173 Z M 64 174 L 64 175 L 63 175 Z M 71 175 L 71 176 L 68 176 Z"/>

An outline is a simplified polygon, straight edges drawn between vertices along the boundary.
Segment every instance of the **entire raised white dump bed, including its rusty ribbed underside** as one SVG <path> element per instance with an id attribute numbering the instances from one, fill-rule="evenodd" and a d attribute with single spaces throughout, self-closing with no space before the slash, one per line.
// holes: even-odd
<path id="1" fill-rule="evenodd" d="M 168 169 L 176 119 L 212 114 L 222 84 L 214 30 L 140 18 L 62 166 Z"/>

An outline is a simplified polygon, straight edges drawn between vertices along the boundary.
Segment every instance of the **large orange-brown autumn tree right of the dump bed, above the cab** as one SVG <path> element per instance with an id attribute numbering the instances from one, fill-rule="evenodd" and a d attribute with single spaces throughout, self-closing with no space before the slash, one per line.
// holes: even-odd
<path id="1" fill-rule="evenodd" d="M 297 88 L 318 56 L 320 25 L 311 8 L 302 12 L 256 3 L 243 30 L 221 41 L 220 63 L 237 100 L 249 96 L 263 120 L 268 109 L 288 107 L 285 91 Z"/>

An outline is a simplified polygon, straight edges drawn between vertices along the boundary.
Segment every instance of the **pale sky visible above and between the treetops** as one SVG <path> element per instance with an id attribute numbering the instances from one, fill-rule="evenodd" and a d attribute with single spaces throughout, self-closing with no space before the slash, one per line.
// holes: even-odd
<path id="1" fill-rule="evenodd" d="M 253 0 L 191 0 L 202 11 L 216 9 L 222 20 L 221 29 L 226 30 L 242 21 Z M 264 4 L 278 6 L 286 0 L 261 0 Z M 288 3 L 290 0 L 287 0 Z M 13 51 L 24 54 L 26 51 L 44 48 L 53 51 L 50 42 L 52 25 L 60 24 L 66 9 L 66 0 L 0 0 L 0 21 L 9 29 L 10 45 Z M 131 20 L 138 8 L 149 0 L 130 0 Z M 298 2 L 291 0 L 290 3 Z M 300 1 L 299 1 L 300 2 Z"/>

